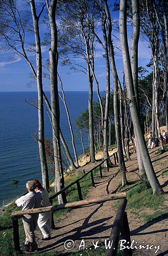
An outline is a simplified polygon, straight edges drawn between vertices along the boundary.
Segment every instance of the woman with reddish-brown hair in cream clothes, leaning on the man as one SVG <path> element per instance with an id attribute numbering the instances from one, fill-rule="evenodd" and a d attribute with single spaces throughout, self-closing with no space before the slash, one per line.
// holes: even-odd
<path id="1" fill-rule="evenodd" d="M 50 206 L 51 203 L 49 201 L 49 193 L 45 188 L 42 187 L 39 180 L 34 180 L 35 183 L 35 191 L 41 193 L 41 207 Z M 50 240 L 51 239 L 51 228 L 52 228 L 52 211 L 42 212 L 39 214 L 37 224 L 43 237 L 41 240 Z"/>

